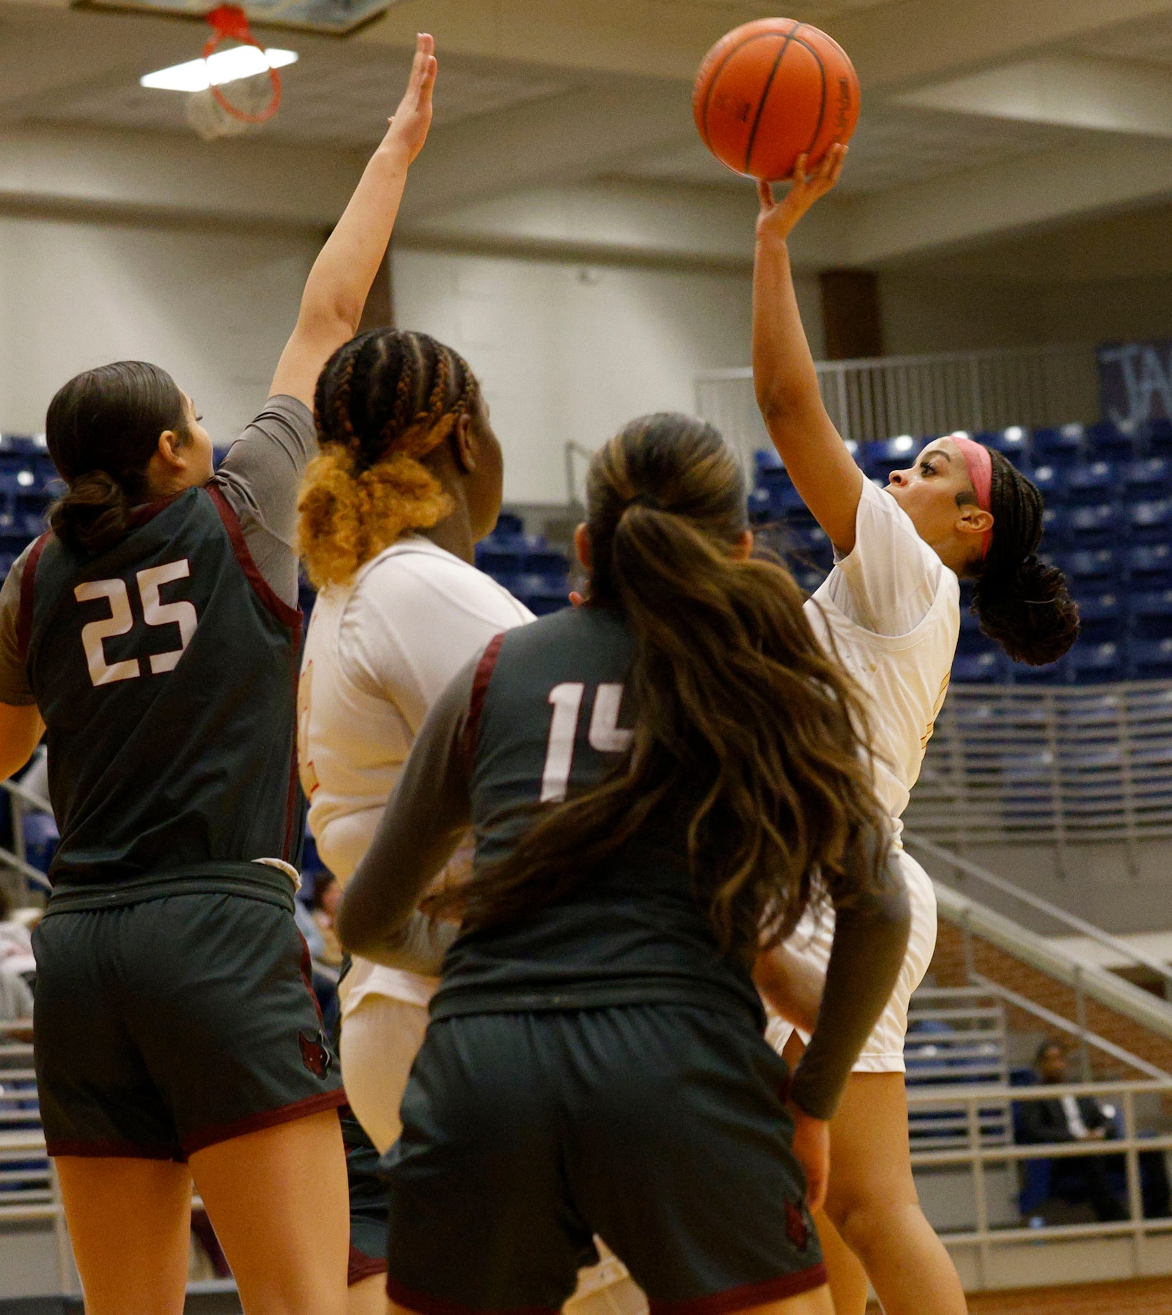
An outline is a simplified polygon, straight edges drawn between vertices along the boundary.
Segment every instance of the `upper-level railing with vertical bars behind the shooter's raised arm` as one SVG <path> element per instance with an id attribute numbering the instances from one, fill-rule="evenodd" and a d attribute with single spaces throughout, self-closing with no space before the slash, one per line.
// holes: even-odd
<path id="1" fill-rule="evenodd" d="M 1009 425 L 1089 423 L 1098 416 L 1094 348 L 1081 343 L 820 360 L 823 401 L 838 433 L 854 442 L 896 434 L 979 431 Z M 767 447 L 753 396 L 753 372 L 696 375 L 696 410 L 752 463 Z"/>

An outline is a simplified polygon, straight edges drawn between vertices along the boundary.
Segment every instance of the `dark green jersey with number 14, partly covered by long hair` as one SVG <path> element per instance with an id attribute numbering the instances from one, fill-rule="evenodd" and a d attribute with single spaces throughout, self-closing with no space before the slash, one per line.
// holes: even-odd
<path id="1" fill-rule="evenodd" d="M 632 656 L 625 623 L 600 608 L 566 609 L 489 647 L 466 731 L 477 869 L 508 852 L 527 825 L 520 807 L 615 767 L 635 717 L 623 698 Z M 749 972 L 719 949 L 692 886 L 686 826 L 652 823 L 572 894 L 460 936 L 432 1014 L 674 1001 L 759 1020 Z"/>

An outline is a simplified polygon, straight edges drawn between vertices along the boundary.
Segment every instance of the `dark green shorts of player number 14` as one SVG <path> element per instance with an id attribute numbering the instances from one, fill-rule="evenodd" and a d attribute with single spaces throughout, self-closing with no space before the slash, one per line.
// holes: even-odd
<path id="1" fill-rule="evenodd" d="M 819 1287 L 786 1086 L 748 1018 L 694 1006 L 432 1022 L 384 1157 L 389 1295 L 557 1311 L 595 1233 L 653 1315 Z"/>

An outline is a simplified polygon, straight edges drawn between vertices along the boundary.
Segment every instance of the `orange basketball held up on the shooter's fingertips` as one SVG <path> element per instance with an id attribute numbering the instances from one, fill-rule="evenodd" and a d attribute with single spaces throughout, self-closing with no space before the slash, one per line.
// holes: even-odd
<path id="1" fill-rule="evenodd" d="M 733 28 L 704 57 L 692 113 L 723 164 L 778 181 L 803 153 L 815 166 L 850 138 L 858 75 L 838 42 L 808 22 L 758 18 Z"/>

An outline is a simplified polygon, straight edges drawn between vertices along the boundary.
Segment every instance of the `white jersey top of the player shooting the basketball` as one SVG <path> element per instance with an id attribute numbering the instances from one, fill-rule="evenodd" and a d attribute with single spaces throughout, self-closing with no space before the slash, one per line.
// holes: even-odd
<path id="1" fill-rule="evenodd" d="M 805 604 L 867 696 L 875 785 L 900 814 L 943 706 L 960 629 L 960 583 L 895 498 L 863 480 L 855 546 Z"/>

